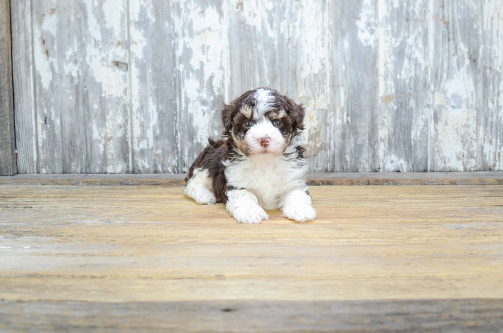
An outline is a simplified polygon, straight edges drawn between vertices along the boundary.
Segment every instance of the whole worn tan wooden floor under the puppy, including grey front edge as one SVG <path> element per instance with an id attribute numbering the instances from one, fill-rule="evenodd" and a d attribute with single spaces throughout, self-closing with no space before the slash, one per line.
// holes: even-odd
<path id="1" fill-rule="evenodd" d="M 0 331 L 503 331 L 503 186 L 314 186 L 237 224 L 180 186 L 0 186 Z"/>

